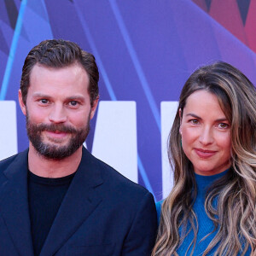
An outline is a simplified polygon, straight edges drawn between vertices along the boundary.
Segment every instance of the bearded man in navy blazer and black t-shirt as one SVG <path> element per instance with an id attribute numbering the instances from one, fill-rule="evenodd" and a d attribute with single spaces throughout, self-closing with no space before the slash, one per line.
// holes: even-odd
<path id="1" fill-rule="evenodd" d="M 82 146 L 98 79 L 94 56 L 72 42 L 46 40 L 26 56 L 29 149 L 0 162 L 1 255 L 150 255 L 153 196 Z"/>

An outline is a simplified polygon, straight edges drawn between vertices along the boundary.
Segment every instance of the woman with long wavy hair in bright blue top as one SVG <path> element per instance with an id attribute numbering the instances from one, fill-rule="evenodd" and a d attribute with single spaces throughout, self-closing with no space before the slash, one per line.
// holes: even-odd
<path id="1" fill-rule="evenodd" d="M 235 67 L 201 67 L 169 140 L 174 186 L 152 255 L 256 255 L 256 92 Z"/>

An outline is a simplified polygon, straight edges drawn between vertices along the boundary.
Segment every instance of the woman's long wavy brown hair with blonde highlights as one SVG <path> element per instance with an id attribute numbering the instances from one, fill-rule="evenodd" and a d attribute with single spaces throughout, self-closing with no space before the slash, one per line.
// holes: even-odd
<path id="1" fill-rule="evenodd" d="M 207 90 L 218 97 L 230 122 L 231 136 L 230 171 L 212 184 L 206 196 L 205 209 L 217 234 L 203 255 L 213 247 L 217 247 L 214 255 L 243 255 L 249 247 L 251 255 L 256 255 L 256 92 L 244 74 L 221 61 L 197 69 L 181 92 L 169 135 L 168 154 L 174 170 L 174 186 L 162 204 L 152 255 L 177 255 L 177 248 L 182 246 L 189 231 L 195 234 L 190 244 L 192 253 L 195 249 L 198 224 L 193 204 L 197 189 L 193 166 L 180 143 L 179 109 L 183 113 L 188 97 L 197 90 Z M 214 199 L 218 200 L 218 207 L 213 207 Z M 180 234 L 181 226 L 190 228 Z"/>

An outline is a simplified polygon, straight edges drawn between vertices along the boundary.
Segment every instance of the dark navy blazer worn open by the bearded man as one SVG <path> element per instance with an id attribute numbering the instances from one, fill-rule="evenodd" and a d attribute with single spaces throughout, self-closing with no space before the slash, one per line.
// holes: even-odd
<path id="1" fill-rule="evenodd" d="M 0 255 L 32 256 L 27 153 L 0 162 Z M 82 160 L 40 256 L 150 255 L 153 196 L 83 148 Z"/>

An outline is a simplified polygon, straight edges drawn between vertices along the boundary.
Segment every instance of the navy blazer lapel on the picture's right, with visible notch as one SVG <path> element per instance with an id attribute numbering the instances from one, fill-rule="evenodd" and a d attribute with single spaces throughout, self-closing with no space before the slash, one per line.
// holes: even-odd
<path id="1" fill-rule="evenodd" d="M 101 196 L 96 192 L 96 187 L 101 184 L 102 177 L 96 160 L 83 148 L 79 168 L 49 230 L 40 256 L 56 253 L 96 209 L 102 201 Z"/>

